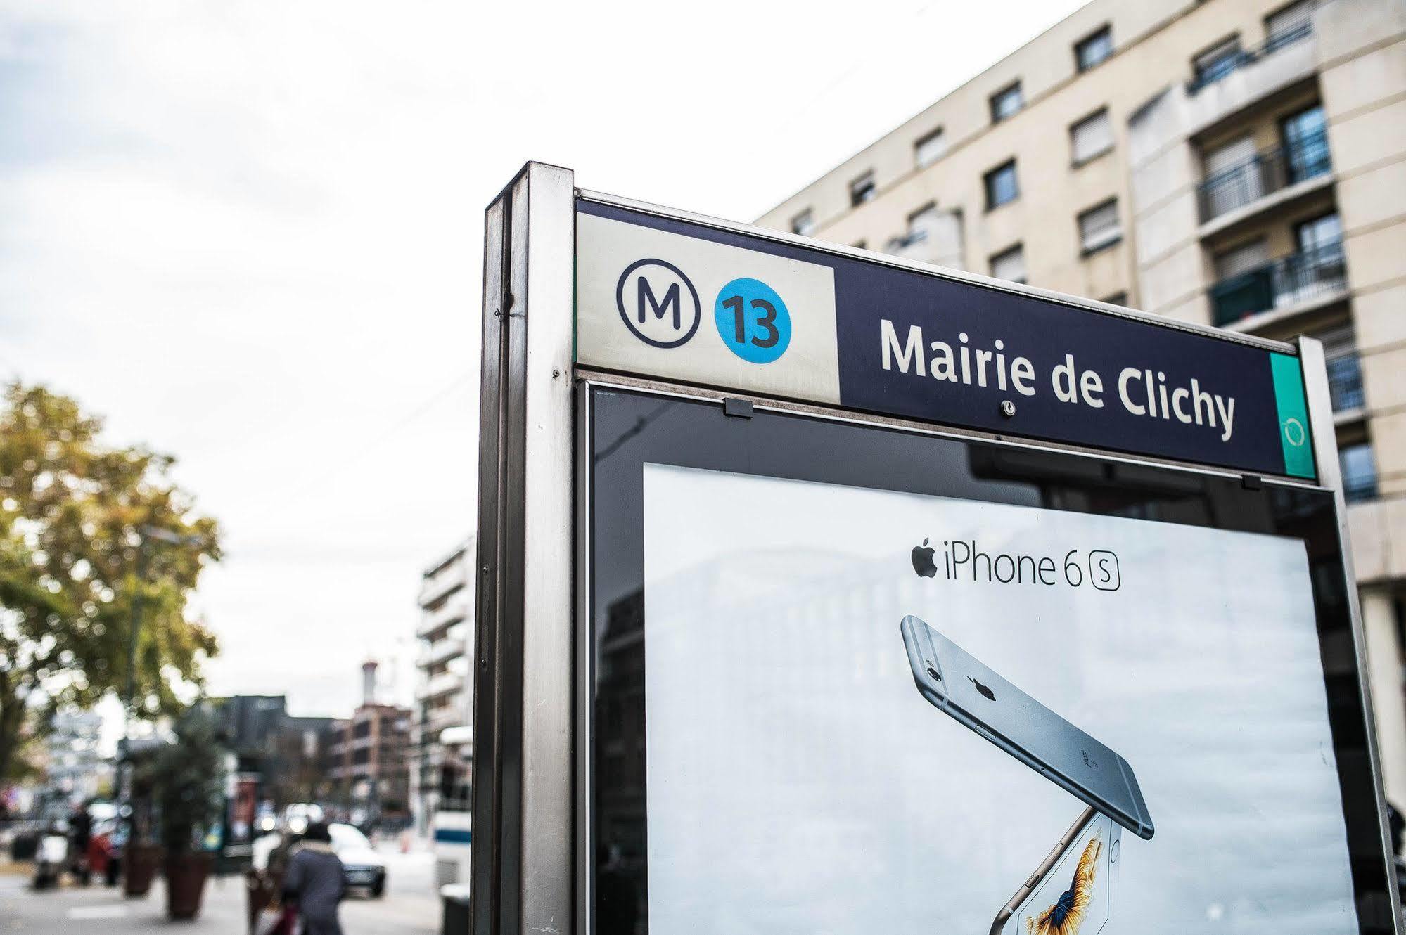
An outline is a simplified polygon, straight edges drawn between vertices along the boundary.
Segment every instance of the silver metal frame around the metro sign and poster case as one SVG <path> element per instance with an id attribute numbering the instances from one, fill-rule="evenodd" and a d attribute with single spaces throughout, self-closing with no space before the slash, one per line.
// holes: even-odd
<path id="1" fill-rule="evenodd" d="M 1125 321 L 1152 323 L 1295 356 L 1303 374 L 1317 479 L 1250 475 L 1233 468 L 1083 444 L 1011 437 L 838 405 L 776 398 L 727 385 L 690 385 L 651 374 L 576 364 L 578 198 L 723 232 L 803 246 L 887 267 L 970 283 Z M 1097 456 L 1180 471 L 1333 492 L 1357 681 L 1368 728 L 1384 842 L 1388 830 L 1375 721 L 1346 524 L 1323 350 L 1171 322 L 1132 309 L 1015 285 L 922 263 L 814 242 L 575 188 L 571 170 L 527 163 L 488 207 L 484 249 L 482 389 L 478 465 L 475 613 L 472 931 L 591 932 L 591 619 L 588 562 L 592 387 L 641 388 L 702 401 L 936 436 L 983 439 L 1026 450 Z M 1391 868 L 1388 868 L 1391 872 Z M 1392 920 L 1400 918 L 1395 889 Z M 1393 931 L 1400 931 L 1393 921 Z"/>

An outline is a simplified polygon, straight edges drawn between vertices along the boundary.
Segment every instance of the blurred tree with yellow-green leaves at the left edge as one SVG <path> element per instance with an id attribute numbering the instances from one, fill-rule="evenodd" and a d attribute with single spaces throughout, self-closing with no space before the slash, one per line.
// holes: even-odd
<path id="1" fill-rule="evenodd" d="M 134 710 L 179 710 L 215 637 L 184 616 L 218 527 L 170 479 L 173 458 L 107 447 L 103 423 L 44 387 L 0 398 L 0 776 L 60 704 L 122 692 L 132 603 Z"/>

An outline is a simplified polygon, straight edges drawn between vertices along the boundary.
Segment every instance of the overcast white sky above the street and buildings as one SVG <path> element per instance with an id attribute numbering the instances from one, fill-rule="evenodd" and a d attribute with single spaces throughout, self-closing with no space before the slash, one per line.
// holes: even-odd
<path id="1" fill-rule="evenodd" d="M 516 169 L 747 221 L 1078 6 L 0 0 L 0 377 L 180 458 L 212 690 L 408 702 Z"/>

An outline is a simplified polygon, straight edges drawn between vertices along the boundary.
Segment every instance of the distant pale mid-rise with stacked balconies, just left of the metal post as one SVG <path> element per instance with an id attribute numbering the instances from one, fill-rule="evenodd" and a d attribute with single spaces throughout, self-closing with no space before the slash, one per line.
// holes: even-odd
<path id="1" fill-rule="evenodd" d="M 411 807 L 422 832 L 429 831 L 434 811 L 446 800 L 463 797 L 468 783 L 472 748 L 461 742 L 461 735 L 474 717 L 470 664 L 475 579 L 470 539 L 430 565 L 420 582 Z M 444 738 L 447 728 L 457 730 Z"/>

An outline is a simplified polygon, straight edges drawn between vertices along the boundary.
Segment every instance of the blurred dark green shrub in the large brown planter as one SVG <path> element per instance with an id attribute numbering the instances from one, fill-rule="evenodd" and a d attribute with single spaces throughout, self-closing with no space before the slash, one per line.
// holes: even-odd
<path id="1" fill-rule="evenodd" d="M 215 720 L 193 707 L 176 723 L 176 742 L 138 765 L 134 789 L 150 792 L 167 853 L 195 848 L 224 810 L 224 755 Z"/>

